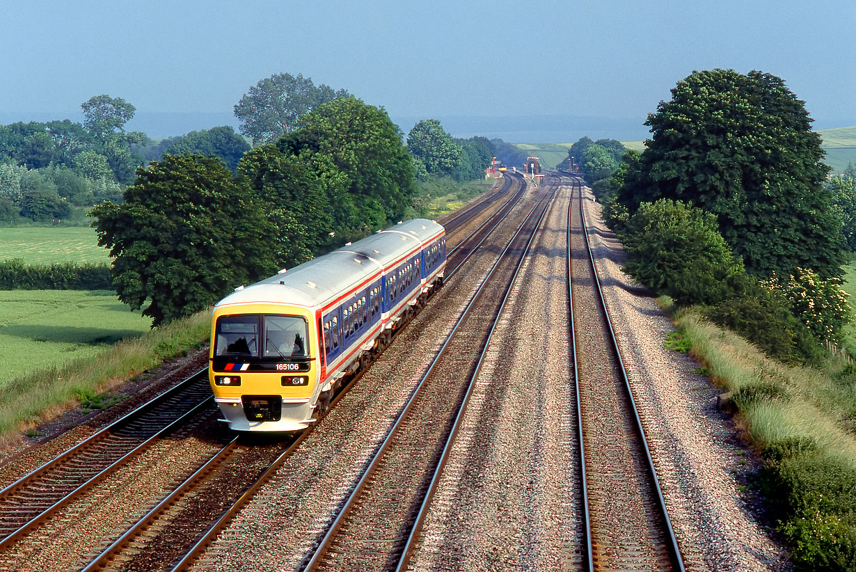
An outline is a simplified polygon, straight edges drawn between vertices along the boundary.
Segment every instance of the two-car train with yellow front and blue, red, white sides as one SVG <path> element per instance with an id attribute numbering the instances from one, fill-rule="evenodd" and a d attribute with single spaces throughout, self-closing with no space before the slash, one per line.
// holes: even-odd
<path id="1" fill-rule="evenodd" d="M 446 231 L 413 218 L 235 289 L 211 314 L 208 375 L 237 432 L 306 429 L 443 284 Z"/>

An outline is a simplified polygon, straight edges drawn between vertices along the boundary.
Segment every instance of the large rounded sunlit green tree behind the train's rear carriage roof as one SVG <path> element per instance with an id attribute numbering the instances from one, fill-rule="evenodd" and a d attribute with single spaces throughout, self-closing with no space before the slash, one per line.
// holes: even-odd
<path id="1" fill-rule="evenodd" d="M 338 243 L 400 220 L 412 205 L 413 162 L 383 108 L 336 98 L 300 117 L 299 128 L 277 146 L 318 179 Z"/>

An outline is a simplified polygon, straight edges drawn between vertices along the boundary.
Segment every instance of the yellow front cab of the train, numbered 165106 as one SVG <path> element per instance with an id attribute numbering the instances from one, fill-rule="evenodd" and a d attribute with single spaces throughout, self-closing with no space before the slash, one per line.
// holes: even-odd
<path id="1" fill-rule="evenodd" d="M 318 330 L 304 307 L 217 307 L 209 381 L 235 431 L 298 431 L 318 393 Z"/>

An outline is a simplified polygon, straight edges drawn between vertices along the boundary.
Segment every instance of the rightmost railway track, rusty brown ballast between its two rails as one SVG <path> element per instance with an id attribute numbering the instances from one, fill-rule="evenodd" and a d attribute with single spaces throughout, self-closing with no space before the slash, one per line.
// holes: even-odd
<path id="1" fill-rule="evenodd" d="M 568 209 L 569 313 L 589 570 L 683 570 L 588 243 L 582 185 Z"/>

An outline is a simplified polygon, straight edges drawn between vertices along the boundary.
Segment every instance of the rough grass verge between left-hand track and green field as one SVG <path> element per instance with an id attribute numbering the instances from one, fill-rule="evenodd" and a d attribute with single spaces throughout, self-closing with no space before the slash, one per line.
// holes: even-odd
<path id="1" fill-rule="evenodd" d="M 96 355 L 44 367 L 7 382 L 0 389 L 0 439 L 14 440 L 81 402 L 90 407 L 103 403 L 99 394 L 104 391 L 204 345 L 210 328 L 211 313 L 200 312 L 117 342 Z"/>

